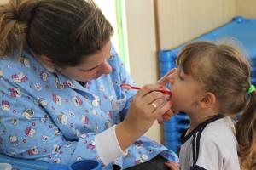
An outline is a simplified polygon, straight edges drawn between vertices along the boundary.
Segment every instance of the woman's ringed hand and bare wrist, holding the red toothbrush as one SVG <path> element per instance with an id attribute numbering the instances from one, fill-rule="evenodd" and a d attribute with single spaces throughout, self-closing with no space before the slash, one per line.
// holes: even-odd
<path id="1" fill-rule="evenodd" d="M 171 102 L 156 90 L 160 85 L 146 85 L 131 101 L 125 120 L 116 126 L 116 136 L 120 147 L 125 150 L 131 143 L 148 131 L 157 118 L 171 109 Z"/>

